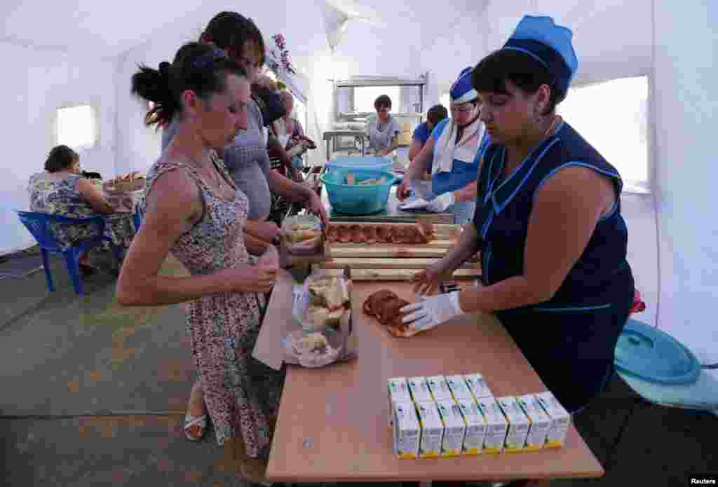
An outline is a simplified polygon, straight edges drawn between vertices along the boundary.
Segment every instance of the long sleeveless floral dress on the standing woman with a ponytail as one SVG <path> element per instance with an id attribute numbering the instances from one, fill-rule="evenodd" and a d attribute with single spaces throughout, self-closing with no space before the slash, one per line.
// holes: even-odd
<path id="1" fill-rule="evenodd" d="M 236 189 L 223 164 L 215 167 L 227 184 Z M 248 199 L 237 190 L 234 201 L 215 194 L 196 169 L 165 156 L 147 174 L 144 198 L 139 209 L 146 209 L 146 197 L 154 181 L 167 171 L 182 169 L 195 181 L 205 205 L 200 222 L 171 247 L 177 260 L 192 275 L 206 275 L 237 265 L 256 263 L 244 245 L 243 229 Z M 212 418 L 217 443 L 241 435 L 251 458 L 269 455 L 268 418 L 279 409 L 284 374 L 276 372 L 251 354 L 258 338 L 264 293 L 223 292 L 205 295 L 187 303 L 187 329 L 192 357 L 200 376 L 205 405 Z"/>

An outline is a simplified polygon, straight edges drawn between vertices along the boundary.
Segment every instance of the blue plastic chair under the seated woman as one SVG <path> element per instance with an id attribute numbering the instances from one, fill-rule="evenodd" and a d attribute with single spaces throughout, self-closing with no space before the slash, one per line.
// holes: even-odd
<path id="1" fill-rule="evenodd" d="M 70 273 L 70 279 L 73 281 L 75 293 L 78 293 L 79 295 L 84 294 L 83 280 L 80 278 L 79 265 L 79 257 L 81 253 L 90 248 L 102 245 L 102 242 L 110 242 L 110 247 L 114 257 L 118 260 L 118 262 L 120 261 L 121 256 L 119 248 L 116 247 L 116 245 L 113 245 L 110 238 L 103 235 L 103 231 L 105 230 L 105 220 L 99 214 L 94 217 L 70 218 L 42 212 L 23 212 L 20 210 L 15 210 L 15 212 L 17 212 L 17 216 L 22 224 L 27 227 L 27 230 L 29 230 L 40 246 L 40 250 L 42 252 L 42 265 L 45 268 L 45 278 L 47 279 L 47 288 L 50 291 L 54 291 L 55 286 L 52 285 L 50 263 L 47 260 L 48 253 L 58 254 L 65 257 L 67 272 Z M 63 249 L 59 242 L 57 242 L 55 235 L 52 235 L 52 230 L 50 230 L 51 223 L 93 224 L 97 229 L 98 237 L 83 240 L 82 242 L 78 242 L 77 245 Z"/>

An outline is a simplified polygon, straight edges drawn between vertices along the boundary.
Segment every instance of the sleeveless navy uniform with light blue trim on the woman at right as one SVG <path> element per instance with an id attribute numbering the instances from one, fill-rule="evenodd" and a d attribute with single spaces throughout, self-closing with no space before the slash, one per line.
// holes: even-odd
<path id="1" fill-rule="evenodd" d="M 617 195 L 623 187 L 616 169 L 567 123 L 561 123 L 506 179 L 502 179 L 504 158 L 503 146 L 490 145 L 477 179 L 474 224 L 484 285 L 523 274 L 533 199 L 556 172 L 583 166 L 609 178 Z M 568 410 L 579 409 L 596 394 L 612 367 L 615 344 L 633 301 L 627 244 L 617 197 L 550 301 L 496 313 Z"/>

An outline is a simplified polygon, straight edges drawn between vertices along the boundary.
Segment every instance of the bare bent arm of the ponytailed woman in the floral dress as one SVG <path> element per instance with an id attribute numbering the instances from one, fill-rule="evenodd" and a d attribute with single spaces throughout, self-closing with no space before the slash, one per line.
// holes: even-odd
<path id="1" fill-rule="evenodd" d="M 123 306 L 182 303 L 224 291 L 269 290 L 276 270 L 239 265 L 207 275 L 159 275 L 170 247 L 200 218 L 199 190 L 184 171 L 169 171 L 154 181 L 147 211 L 122 265 L 116 298 Z"/>

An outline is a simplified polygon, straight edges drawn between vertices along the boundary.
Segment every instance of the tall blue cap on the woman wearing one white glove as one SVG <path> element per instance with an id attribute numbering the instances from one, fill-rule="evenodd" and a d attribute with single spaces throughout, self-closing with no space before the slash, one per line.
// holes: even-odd
<path id="1" fill-rule="evenodd" d="M 525 15 L 503 49 L 533 57 L 554 76 L 556 88 L 565 93 L 579 67 L 573 37 L 571 29 L 554 24 L 551 17 Z"/>

